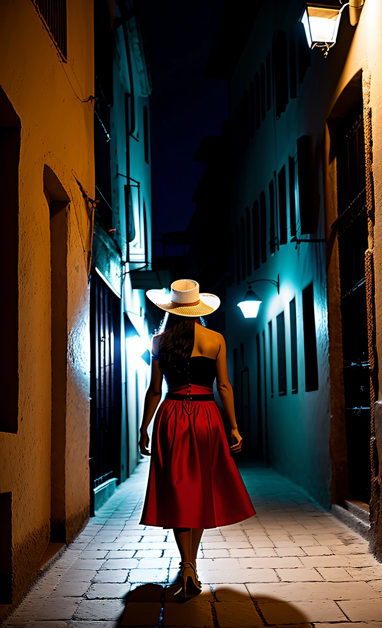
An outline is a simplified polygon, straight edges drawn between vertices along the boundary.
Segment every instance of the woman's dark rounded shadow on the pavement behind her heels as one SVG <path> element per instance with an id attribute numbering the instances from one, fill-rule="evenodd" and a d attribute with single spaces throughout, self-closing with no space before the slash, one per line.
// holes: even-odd
<path id="1" fill-rule="evenodd" d="M 198 597 L 181 602 L 174 597 L 179 585 L 146 584 L 130 591 L 122 628 L 310 628 L 312 624 L 293 604 L 246 593 L 244 585 L 203 585 Z"/>

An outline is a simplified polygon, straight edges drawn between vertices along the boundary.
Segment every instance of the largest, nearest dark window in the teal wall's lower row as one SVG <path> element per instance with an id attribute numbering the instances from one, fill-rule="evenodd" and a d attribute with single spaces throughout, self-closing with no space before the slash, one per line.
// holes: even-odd
<path id="1" fill-rule="evenodd" d="M 305 390 L 318 390 L 316 322 L 314 320 L 313 284 L 302 291 L 302 318 L 304 320 Z"/>

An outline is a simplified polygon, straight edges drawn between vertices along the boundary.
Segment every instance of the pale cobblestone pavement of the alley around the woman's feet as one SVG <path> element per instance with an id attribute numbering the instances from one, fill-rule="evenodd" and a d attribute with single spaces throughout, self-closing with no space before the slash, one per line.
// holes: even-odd
<path id="1" fill-rule="evenodd" d="M 124 614 L 130 627 L 382 628 L 382 565 L 363 538 L 274 470 L 248 463 L 241 472 L 257 517 L 204 532 L 198 598 L 171 596 L 172 531 L 139 526 L 141 463 L 5 625 L 114 628 Z"/>

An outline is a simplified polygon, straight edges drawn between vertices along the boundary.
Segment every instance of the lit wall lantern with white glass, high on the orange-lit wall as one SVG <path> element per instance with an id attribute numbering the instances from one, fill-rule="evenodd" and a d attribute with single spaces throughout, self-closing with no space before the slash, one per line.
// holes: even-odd
<path id="1" fill-rule="evenodd" d="M 343 4 L 341 9 L 330 6 L 322 6 L 321 3 L 307 3 L 304 7 L 300 22 L 304 25 L 305 35 L 309 48 L 321 48 L 324 57 L 337 40 L 337 32 L 341 13 L 346 6 L 349 6 L 350 23 L 352 26 L 358 24 L 359 16 L 364 0 L 351 0 Z"/>

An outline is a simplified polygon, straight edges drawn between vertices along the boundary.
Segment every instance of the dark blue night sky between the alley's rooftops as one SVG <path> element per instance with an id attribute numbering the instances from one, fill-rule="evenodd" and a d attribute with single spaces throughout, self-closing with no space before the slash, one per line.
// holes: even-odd
<path id="1" fill-rule="evenodd" d="M 224 0 L 143 0 L 152 74 L 151 169 L 153 239 L 186 229 L 204 163 L 193 161 L 203 135 L 219 135 L 228 117 L 227 83 L 204 67 Z M 161 247 L 154 249 L 161 254 Z"/>

